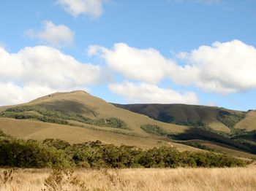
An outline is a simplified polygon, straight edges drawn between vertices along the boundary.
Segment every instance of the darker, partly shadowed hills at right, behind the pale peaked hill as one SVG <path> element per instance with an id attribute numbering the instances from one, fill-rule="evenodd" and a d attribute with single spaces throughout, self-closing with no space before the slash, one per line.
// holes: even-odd
<path id="1" fill-rule="evenodd" d="M 255 110 L 243 112 L 217 106 L 186 104 L 113 105 L 145 114 L 154 120 L 192 127 L 185 130 L 185 133 L 171 136 L 176 141 L 183 141 L 189 145 L 203 144 L 230 154 L 234 153 L 234 149 L 256 153 Z"/>

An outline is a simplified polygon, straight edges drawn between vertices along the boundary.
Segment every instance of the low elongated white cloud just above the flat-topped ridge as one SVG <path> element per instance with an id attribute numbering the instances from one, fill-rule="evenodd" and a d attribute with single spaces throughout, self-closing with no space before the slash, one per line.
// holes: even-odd
<path id="1" fill-rule="evenodd" d="M 197 95 L 195 95 L 195 93 L 178 93 L 171 89 L 163 89 L 157 85 L 149 85 L 146 83 L 116 83 L 110 84 L 109 89 L 113 93 L 127 98 L 129 103 L 198 104 Z"/>

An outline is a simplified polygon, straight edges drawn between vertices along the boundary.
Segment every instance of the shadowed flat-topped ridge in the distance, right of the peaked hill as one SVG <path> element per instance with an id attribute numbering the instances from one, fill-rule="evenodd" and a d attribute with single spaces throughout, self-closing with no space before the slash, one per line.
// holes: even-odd
<path id="1" fill-rule="evenodd" d="M 114 104 L 131 112 L 145 114 L 162 122 L 202 126 L 229 133 L 236 124 L 228 124 L 227 120 L 244 117 L 245 112 L 223 109 L 215 106 L 195 106 L 185 104 Z M 232 119 L 230 119 L 233 117 Z M 238 119 L 241 120 L 241 119 Z"/>

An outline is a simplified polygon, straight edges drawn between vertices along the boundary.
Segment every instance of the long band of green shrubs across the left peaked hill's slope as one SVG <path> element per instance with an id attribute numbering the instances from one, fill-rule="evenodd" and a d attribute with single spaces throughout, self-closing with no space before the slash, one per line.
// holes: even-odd
<path id="1" fill-rule="evenodd" d="M 4 112 L 1 112 L 0 117 L 10 117 L 18 120 L 32 119 L 42 122 L 52 122 L 78 127 L 81 127 L 81 125 L 78 125 L 75 122 L 81 122 L 89 125 L 97 125 L 100 127 L 127 129 L 126 123 L 123 120 L 115 117 L 92 120 L 90 118 L 83 117 L 80 114 L 48 109 L 42 106 L 15 106 L 6 109 Z"/>

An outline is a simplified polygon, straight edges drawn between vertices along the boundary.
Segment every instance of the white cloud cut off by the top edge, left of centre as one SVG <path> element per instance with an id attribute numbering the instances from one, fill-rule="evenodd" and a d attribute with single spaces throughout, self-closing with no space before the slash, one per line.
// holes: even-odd
<path id="1" fill-rule="evenodd" d="M 91 15 L 99 17 L 102 15 L 102 5 L 105 0 L 57 0 L 57 4 L 64 7 L 65 11 L 73 17 L 78 15 Z"/>

